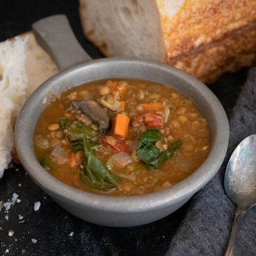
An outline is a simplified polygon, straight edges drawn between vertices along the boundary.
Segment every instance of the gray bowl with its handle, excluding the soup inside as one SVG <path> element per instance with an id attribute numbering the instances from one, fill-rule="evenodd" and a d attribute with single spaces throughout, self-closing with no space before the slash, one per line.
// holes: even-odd
<path id="1" fill-rule="evenodd" d="M 229 137 L 226 114 L 216 96 L 200 81 L 184 72 L 151 61 L 105 58 L 89 60 L 73 37 L 65 16 L 37 22 L 38 42 L 57 61 L 61 71 L 44 82 L 27 100 L 15 127 L 18 156 L 33 181 L 59 205 L 82 220 L 104 226 L 136 226 L 159 220 L 181 207 L 217 173 Z M 57 31 L 56 31 L 57 28 Z M 74 64 L 81 65 L 69 68 Z M 166 84 L 192 99 L 208 120 L 211 131 L 209 156 L 196 172 L 180 183 L 143 196 L 110 197 L 80 191 L 51 176 L 38 163 L 33 134 L 48 92 L 62 92 L 84 82 L 105 78 L 138 78 Z"/>

